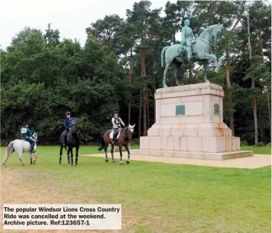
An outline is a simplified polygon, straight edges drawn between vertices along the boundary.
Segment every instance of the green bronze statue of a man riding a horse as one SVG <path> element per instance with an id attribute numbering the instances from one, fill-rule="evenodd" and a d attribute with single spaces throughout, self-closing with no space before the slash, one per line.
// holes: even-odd
<path id="1" fill-rule="evenodd" d="M 221 42 L 223 38 L 223 24 L 208 26 L 197 38 L 193 36 L 193 31 L 189 27 L 190 21 L 186 19 L 184 24 L 181 29 L 181 44 L 166 46 L 161 51 L 161 66 L 165 66 L 163 72 L 163 87 L 167 87 L 166 73 L 171 64 L 175 65 L 174 76 L 177 86 L 180 85 L 178 82 L 178 74 L 181 64 L 188 63 L 189 61 L 199 61 L 203 64 L 205 71 L 204 79 L 206 82 L 209 82 L 207 78 L 208 60 L 213 60 L 214 66 L 216 66 L 215 71 L 218 73 L 217 58 L 211 54 L 211 47 Z"/>

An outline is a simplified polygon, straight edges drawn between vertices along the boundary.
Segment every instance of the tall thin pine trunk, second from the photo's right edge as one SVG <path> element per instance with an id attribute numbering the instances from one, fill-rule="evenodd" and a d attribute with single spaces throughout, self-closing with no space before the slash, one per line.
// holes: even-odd
<path id="1" fill-rule="evenodd" d="M 249 60 L 251 61 L 252 49 L 251 49 L 249 14 L 247 16 L 247 21 L 248 21 L 248 51 L 249 51 Z M 255 89 L 255 80 L 254 80 L 253 74 L 251 75 L 251 89 Z M 253 116 L 254 116 L 254 132 L 255 132 L 254 142 L 256 146 L 258 144 L 258 119 L 257 119 L 257 101 L 255 96 L 253 97 Z"/>

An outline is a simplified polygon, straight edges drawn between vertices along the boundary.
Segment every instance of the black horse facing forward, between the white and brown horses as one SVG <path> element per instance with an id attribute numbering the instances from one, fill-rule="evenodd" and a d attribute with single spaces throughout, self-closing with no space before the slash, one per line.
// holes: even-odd
<path id="1" fill-rule="evenodd" d="M 64 132 L 61 134 L 61 150 L 59 152 L 59 164 L 61 164 L 61 155 L 62 155 L 62 149 L 65 148 L 66 146 L 68 147 L 67 151 L 67 159 L 68 163 L 70 164 L 70 152 L 71 152 L 71 166 L 73 166 L 74 161 L 73 161 L 73 148 L 76 147 L 76 166 L 78 165 L 78 158 L 79 158 L 79 145 L 80 145 L 80 137 L 79 137 L 79 132 L 77 132 L 76 129 L 76 118 L 71 119 L 71 129 L 70 132 L 67 135 L 67 139 L 65 141 L 64 139 Z M 65 146 L 64 146 L 65 144 Z"/>

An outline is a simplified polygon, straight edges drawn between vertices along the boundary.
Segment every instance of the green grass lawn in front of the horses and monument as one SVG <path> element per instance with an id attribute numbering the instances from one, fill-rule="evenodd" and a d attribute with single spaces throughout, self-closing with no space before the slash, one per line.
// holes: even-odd
<path id="1" fill-rule="evenodd" d="M 80 154 L 93 153 L 97 147 L 80 148 Z M 69 190 L 77 203 L 121 203 L 122 218 L 133 222 L 126 226 L 131 232 L 271 232 L 271 166 L 163 164 L 134 161 L 132 155 L 124 166 L 80 156 L 79 166 L 69 167 L 66 156 L 59 166 L 59 147 L 38 147 L 37 154 L 38 163 L 26 167 L 11 154 L 5 169 L 26 171 L 29 189 L 39 182 Z M 23 158 L 29 162 L 29 154 Z"/>

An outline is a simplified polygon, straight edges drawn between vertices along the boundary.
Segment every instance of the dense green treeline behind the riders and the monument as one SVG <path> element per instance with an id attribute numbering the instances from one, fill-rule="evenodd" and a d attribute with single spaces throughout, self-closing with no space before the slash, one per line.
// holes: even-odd
<path id="1" fill-rule="evenodd" d="M 175 35 L 187 18 L 196 36 L 223 23 L 223 42 L 213 49 L 221 68 L 208 75 L 225 89 L 224 122 L 243 142 L 270 142 L 271 5 L 263 1 L 177 1 L 163 9 L 139 1 L 126 19 L 109 15 L 90 24 L 84 46 L 61 41 L 50 24 L 45 31 L 26 27 L 1 51 L 1 141 L 18 138 L 28 121 L 40 144 L 56 143 L 66 111 L 78 117 L 84 144 L 111 128 L 114 111 L 136 124 L 135 137 L 146 135 L 162 83 L 161 49 L 180 43 Z M 203 67 L 183 64 L 181 83 L 198 82 Z"/>

